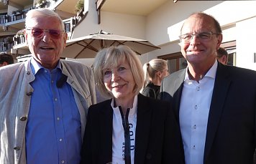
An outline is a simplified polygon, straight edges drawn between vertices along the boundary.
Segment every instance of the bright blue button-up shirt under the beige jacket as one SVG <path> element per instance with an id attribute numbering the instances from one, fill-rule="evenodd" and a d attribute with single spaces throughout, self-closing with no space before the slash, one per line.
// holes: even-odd
<path id="1" fill-rule="evenodd" d="M 62 72 L 45 69 L 32 58 L 35 80 L 26 127 L 27 164 L 80 162 L 81 120 L 67 82 L 56 87 Z"/>

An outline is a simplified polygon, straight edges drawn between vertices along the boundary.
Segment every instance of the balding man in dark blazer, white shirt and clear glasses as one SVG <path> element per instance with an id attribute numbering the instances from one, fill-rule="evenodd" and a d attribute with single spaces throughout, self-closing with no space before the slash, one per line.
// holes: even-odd
<path id="1" fill-rule="evenodd" d="M 186 163 L 253 163 L 256 72 L 216 61 L 222 34 L 212 16 L 192 14 L 180 33 L 188 67 L 163 79 L 161 96 L 173 102 Z"/>

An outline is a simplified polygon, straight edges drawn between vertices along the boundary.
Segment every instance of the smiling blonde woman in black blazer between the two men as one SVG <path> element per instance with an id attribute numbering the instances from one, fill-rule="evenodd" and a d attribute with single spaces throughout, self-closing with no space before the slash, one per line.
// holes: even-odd
<path id="1" fill-rule="evenodd" d="M 103 49 L 93 69 L 99 91 L 111 99 L 89 107 L 81 163 L 183 163 L 170 104 L 139 93 L 143 70 L 137 54 L 126 46 Z"/>

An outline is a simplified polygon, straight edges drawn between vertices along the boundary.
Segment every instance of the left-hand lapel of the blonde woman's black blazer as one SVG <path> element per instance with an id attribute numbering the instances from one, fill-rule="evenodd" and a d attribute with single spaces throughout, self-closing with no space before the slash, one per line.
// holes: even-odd
<path id="1" fill-rule="evenodd" d="M 112 130 L 113 130 L 113 110 L 110 105 L 111 100 L 108 102 L 109 105 L 106 108 L 102 110 L 102 115 L 99 115 L 101 117 L 100 119 L 100 138 L 101 140 L 101 163 L 109 163 L 112 161 Z"/>

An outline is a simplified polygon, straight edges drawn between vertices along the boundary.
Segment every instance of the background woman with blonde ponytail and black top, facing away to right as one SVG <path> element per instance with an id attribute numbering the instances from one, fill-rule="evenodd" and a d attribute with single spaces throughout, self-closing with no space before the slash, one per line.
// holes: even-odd
<path id="1" fill-rule="evenodd" d="M 168 76 L 168 65 L 164 59 L 152 59 L 143 65 L 145 82 L 142 95 L 160 99 L 160 85 L 164 77 Z"/>

